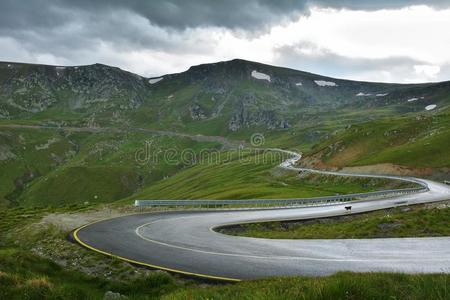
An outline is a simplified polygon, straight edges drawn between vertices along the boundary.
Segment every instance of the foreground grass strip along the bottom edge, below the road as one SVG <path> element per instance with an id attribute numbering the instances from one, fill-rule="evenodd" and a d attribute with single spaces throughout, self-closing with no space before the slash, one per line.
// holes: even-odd
<path id="1" fill-rule="evenodd" d="M 177 283 L 165 273 L 111 281 L 66 271 L 15 249 L 0 249 L 2 299 L 101 299 L 114 291 L 131 299 L 448 299 L 449 275 L 339 273 L 205 286 Z M 383 288 L 380 289 L 380 286 Z"/>

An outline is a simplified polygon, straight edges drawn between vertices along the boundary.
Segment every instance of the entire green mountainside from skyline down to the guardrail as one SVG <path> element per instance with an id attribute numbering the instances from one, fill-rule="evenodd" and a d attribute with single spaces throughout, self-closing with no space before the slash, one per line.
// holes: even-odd
<path id="1" fill-rule="evenodd" d="M 198 134 L 227 137 L 230 150 L 241 141 L 250 145 L 251 136 L 260 133 L 265 138 L 260 146 L 301 151 L 302 163 L 318 168 L 390 163 L 421 176 L 448 176 L 449 82 L 357 82 L 244 60 L 194 66 L 156 81 L 99 64 L 0 63 L 0 91 L 3 205 L 299 197 L 366 189 L 355 182 L 327 189 L 320 180 L 274 175 L 278 162 L 192 167 L 162 159 L 165 150 L 181 155 L 192 148 L 195 156 L 223 147 L 223 138 L 199 140 Z M 431 104 L 436 107 L 426 110 Z M 160 152 L 150 164 L 136 160 L 146 142 Z"/>

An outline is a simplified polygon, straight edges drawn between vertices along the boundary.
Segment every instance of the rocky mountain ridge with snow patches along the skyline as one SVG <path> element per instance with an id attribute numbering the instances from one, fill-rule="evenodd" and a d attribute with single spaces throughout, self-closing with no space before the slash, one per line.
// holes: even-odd
<path id="1" fill-rule="evenodd" d="M 242 59 L 150 78 L 104 64 L 0 63 L 0 119 L 211 135 L 423 113 L 446 107 L 449 91 L 450 81 L 360 82 Z"/>

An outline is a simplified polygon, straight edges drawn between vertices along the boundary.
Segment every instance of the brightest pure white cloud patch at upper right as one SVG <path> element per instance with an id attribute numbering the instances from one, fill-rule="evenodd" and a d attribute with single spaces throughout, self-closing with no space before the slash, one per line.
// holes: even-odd
<path id="1" fill-rule="evenodd" d="M 450 10 L 427 6 L 372 12 L 315 8 L 298 22 L 274 27 L 268 38 L 282 45 L 308 41 L 349 57 L 442 62 L 449 59 L 448 28 Z"/>

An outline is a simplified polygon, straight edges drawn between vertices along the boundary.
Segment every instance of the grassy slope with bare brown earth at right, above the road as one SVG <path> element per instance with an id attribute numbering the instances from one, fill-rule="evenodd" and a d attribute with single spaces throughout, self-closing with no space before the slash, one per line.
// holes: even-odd
<path id="1" fill-rule="evenodd" d="M 371 121 L 341 130 L 309 151 L 332 166 L 394 163 L 450 166 L 450 112 Z"/>

